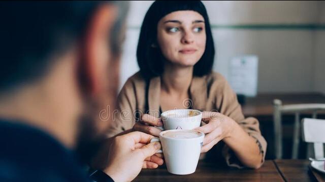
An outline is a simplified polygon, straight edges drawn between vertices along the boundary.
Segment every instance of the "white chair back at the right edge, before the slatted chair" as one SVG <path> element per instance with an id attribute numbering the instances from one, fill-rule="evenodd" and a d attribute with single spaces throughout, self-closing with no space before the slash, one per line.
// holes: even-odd
<path id="1" fill-rule="evenodd" d="M 325 120 L 304 118 L 302 126 L 303 141 L 314 144 L 315 159 L 324 158 Z"/>

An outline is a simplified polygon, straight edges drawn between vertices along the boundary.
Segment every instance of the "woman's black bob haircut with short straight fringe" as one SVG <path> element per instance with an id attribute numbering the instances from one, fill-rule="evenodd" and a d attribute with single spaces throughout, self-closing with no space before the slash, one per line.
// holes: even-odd
<path id="1" fill-rule="evenodd" d="M 157 43 L 157 25 L 161 18 L 175 11 L 196 11 L 205 21 L 206 48 L 201 59 L 194 65 L 193 75 L 203 76 L 211 72 L 214 60 L 214 43 L 207 11 L 201 1 L 155 1 L 144 17 L 138 42 L 137 59 L 144 79 L 160 76 L 164 72 L 164 56 Z"/>

